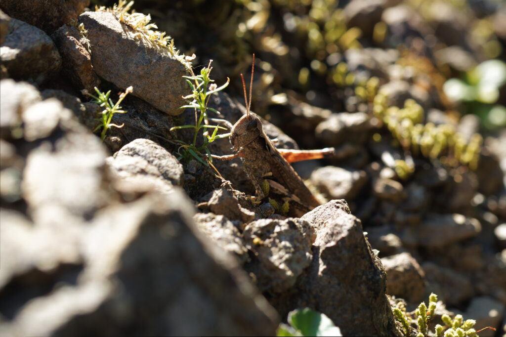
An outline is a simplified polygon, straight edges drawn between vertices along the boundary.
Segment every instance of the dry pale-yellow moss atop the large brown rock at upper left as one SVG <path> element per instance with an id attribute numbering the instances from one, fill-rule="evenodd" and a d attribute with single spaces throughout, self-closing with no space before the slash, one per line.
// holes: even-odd
<path id="1" fill-rule="evenodd" d="M 171 36 L 165 35 L 165 32 L 153 30 L 158 27 L 156 24 L 150 22 L 151 16 L 149 14 L 145 15 L 142 13 L 135 13 L 135 11 L 129 13 L 133 5 L 133 1 L 126 3 L 125 0 L 119 0 L 117 4 L 112 6 L 112 8 L 96 6 L 95 11 L 113 13 L 119 22 L 128 25 L 134 30 L 133 36 L 135 38 L 142 40 L 148 46 L 155 48 L 160 53 L 178 58 L 186 65 L 187 68 L 191 67 L 191 64 L 185 56 L 179 55 L 179 51 L 174 47 L 174 40 Z"/>

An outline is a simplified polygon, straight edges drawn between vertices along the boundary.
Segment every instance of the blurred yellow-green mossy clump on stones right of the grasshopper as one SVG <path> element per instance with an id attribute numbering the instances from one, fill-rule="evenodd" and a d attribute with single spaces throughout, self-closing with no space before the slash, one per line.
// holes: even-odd
<path id="1" fill-rule="evenodd" d="M 424 109 L 412 99 L 406 100 L 404 108 L 388 107 L 387 97 L 378 94 L 374 97 L 373 113 L 413 155 L 437 158 L 450 167 L 463 164 L 476 170 L 483 142 L 480 134 L 474 134 L 466 142 L 452 125 L 423 124 Z"/>

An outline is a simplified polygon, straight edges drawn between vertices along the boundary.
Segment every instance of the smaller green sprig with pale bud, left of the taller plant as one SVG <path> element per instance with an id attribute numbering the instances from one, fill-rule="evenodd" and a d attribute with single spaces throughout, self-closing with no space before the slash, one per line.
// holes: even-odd
<path id="1" fill-rule="evenodd" d="M 95 130 L 93 130 L 93 132 L 96 132 L 96 131 L 102 129 L 102 132 L 100 133 L 100 138 L 102 139 L 102 141 L 104 141 L 105 135 L 107 134 L 107 130 L 109 130 L 110 127 L 115 127 L 115 128 L 122 128 L 123 127 L 124 124 L 117 125 L 117 124 L 111 123 L 112 116 L 115 113 L 126 113 L 125 110 L 121 110 L 121 106 L 119 104 L 126 97 L 126 95 L 128 95 L 134 91 L 134 88 L 132 86 L 130 86 L 130 87 L 126 88 L 124 93 L 120 93 L 119 99 L 116 102 L 116 104 L 114 104 L 112 102 L 112 100 L 109 98 L 109 96 L 111 95 L 110 90 L 104 94 L 103 92 L 98 90 L 97 87 L 95 87 L 95 91 L 97 92 L 97 96 L 90 94 L 88 92 L 88 90 L 83 90 L 82 94 L 90 96 L 91 98 L 94 99 L 92 101 L 93 103 L 97 103 L 101 107 L 104 107 L 104 110 L 102 110 L 101 117 L 97 118 L 99 124 L 97 125 Z"/>

